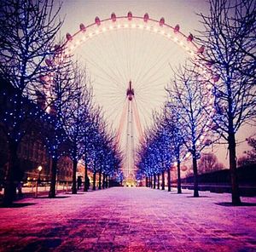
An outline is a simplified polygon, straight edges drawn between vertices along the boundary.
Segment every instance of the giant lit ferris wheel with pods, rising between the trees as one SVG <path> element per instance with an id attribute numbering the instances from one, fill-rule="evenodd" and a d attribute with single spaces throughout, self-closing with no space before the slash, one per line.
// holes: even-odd
<path id="1" fill-rule="evenodd" d="M 65 54 L 74 55 L 90 73 L 95 101 L 125 153 L 126 179 L 134 177 L 136 146 L 152 123 L 152 112 L 166 100 L 172 68 L 202 51 L 192 34 L 185 36 L 178 25 L 169 26 L 164 18 L 154 20 L 148 14 L 113 13 L 105 20 L 96 17 L 89 26 L 81 24 L 73 35 L 67 33 Z"/>

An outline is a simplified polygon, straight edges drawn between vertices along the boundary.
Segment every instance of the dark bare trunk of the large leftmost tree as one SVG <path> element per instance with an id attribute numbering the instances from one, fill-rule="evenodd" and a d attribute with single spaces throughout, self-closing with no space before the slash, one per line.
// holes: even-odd
<path id="1" fill-rule="evenodd" d="M 3 205 L 9 206 L 16 198 L 15 176 L 19 173 L 19 163 L 17 157 L 18 143 L 9 144 L 9 166 L 6 171 L 6 181 L 4 185 Z"/>

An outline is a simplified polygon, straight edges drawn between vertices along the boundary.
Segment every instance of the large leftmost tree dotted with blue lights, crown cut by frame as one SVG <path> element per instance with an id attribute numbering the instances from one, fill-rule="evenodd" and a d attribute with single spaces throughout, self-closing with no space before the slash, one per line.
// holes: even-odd
<path id="1" fill-rule="evenodd" d="M 38 118 L 32 106 L 25 109 L 23 97 L 37 98 L 42 91 L 39 77 L 49 72 L 44 60 L 55 53 L 55 35 L 61 27 L 53 9 L 53 1 L 3 0 L 0 3 L 0 74 L 15 87 L 14 106 L 1 113 L 7 125 L 9 142 L 9 169 L 4 190 L 4 203 L 10 204 L 15 194 L 17 150 L 26 135 L 28 117 Z M 31 110 L 27 110 L 27 109 Z M 7 116 L 7 117 L 6 117 Z"/>

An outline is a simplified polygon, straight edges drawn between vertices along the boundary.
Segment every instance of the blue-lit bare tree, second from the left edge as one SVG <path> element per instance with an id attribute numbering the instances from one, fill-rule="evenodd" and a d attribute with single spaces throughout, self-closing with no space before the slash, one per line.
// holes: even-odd
<path id="1" fill-rule="evenodd" d="M 62 52 L 60 52 L 62 54 Z M 52 130 L 46 134 L 45 145 L 52 158 L 51 180 L 49 198 L 55 198 L 55 183 L 58 160 L 67 155 L 68 145 L 72 145 L 72 138 L 68 138 L 65 131 L 72 120 L 71 105 L 81 98 L 81 86 L 77 82 L 75 73 L 76 65 L 66 59 L 55 66 L 55 72 L 49 89 L 50 114 L 52 117 Z M 68 125 L 68 127 L 67 127 Z M 78 155 L 78 152 L 76 153 Z M 72 152 L 73 155 L 73 152 Z M 73 156 L 72 156 L 73 157 Z M 77 157 L 76 157 L 77 158 Z"/>

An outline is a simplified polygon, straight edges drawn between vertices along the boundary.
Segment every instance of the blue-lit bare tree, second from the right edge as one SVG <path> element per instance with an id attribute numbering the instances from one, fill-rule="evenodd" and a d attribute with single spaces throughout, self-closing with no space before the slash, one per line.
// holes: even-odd
<path id="1" fill-rule="evenodd" d="M 200 158 L 202 149 L 210 144 L 205 137 L 209 132 L 209 122 L 211 114 L 206 110 L 210 109 L 209 98 L 205 79 L 196 72 L 195 66 L 184 66 L 179 68 L 172 79 L 172 88 L 169 89 L 173 102 L 169 102 L 169 107 L 178 111 L 179 122 L 185 135 L 183 144 L 192 156 L 194 173 L 194 197 L 199 197 L 198 192 L 198 171 L 197 159 Z"/>

